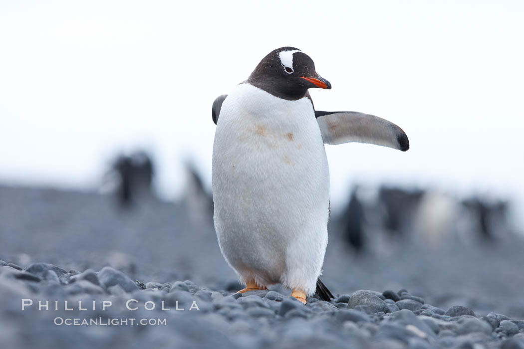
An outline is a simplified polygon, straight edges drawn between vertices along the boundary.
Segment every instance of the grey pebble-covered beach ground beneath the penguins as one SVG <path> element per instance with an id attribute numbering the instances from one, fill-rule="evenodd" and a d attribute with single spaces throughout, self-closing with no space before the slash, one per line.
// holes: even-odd
<path id="1" fill-rule="evenodd" d="M 336 299 L 304 306 L 279 286 L 234 294 L 194 207 L 0 186 L 0 347 L 524 348 L 522 241 L 426 247 L 358 256 L 332 230 Z"/>

